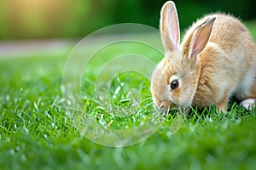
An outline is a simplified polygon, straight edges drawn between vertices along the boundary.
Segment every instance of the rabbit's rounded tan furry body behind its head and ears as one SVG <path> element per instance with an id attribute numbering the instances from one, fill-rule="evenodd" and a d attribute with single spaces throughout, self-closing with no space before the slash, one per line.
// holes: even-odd
<path id="1" fill-rule="evenodd" d="M 236 95 L 238 99 L 242 99 L 248 95 L 248 87 L 252 86 L 253 77 L 256 77 L 256 48 L 253 37 L 240 20 L 230 15 L 210 14 L 196 21 L 184 37 L 183 52 L 189 51 L 186 49 L 191 41 L 189 35 L 212 15 L 217 19 L 207 46 L 199 56 L 201 78 L 194 105 L 210 105 L 213 99 L 213 103 L 218 104 L 224 94 Z"/>

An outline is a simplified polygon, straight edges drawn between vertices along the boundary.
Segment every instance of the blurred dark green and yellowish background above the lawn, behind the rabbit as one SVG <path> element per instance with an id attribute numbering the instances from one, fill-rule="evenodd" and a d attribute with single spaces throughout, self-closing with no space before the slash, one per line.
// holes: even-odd
<path id="1" fill-rule="evenodd" d="M 166 0 L 1 0 L 0 39 L 84 37 L 103 26 L 135 22 L 158 28 Z M 224 11 L 256 18 L 255 0 L 177 0 L 181 28 L 202 14 Z"/>

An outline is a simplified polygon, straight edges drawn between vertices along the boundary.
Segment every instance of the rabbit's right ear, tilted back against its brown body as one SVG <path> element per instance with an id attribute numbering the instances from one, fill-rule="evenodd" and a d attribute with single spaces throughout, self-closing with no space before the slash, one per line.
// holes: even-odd
<path id="1" fill-rule="evenodd" d="M 216 17 L 208 18 L 203 24 L 201 24 L 201 26 L 198 26 L 195 29 L 192 40 L 190 42 L 190 58 L 196 54 L 200 54 L 201 51 L 206 47 L 215 20 Z"/>

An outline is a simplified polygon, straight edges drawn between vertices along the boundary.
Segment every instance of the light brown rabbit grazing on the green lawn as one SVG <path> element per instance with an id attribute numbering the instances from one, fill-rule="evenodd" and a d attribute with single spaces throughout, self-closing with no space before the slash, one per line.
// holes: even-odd
<path id="1" fill-rule="evenodd" d="M 256 45 L 241 21 L 230 14 L 208 14 L 180 42 L 177 9 L 166 2 L 160 12 L 165 57 L 153 71 L 154 105 L 165 110 L 218 106 L 227 111 L 231 97 L 252 109 L 256 101 Z"/>

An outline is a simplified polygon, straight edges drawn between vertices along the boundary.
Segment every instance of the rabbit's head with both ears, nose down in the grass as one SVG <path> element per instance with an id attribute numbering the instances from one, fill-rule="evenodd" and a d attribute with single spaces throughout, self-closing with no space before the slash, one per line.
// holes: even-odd
<path id="1" fill-rule="evenodd" d="M 206 20 L 191 35 L 186 35 L 187 47 L 179 47 L 180 33 L 175 4 L 169 1 L 161 9 L 160 33 L 165 57 L 151 78 L 154 105 L 160 108 L 189 107 L 195 95 L 200 65 L 197 55 L 205 48 L 215 18 Z M 189 45 L 188 45 L 189 44 Z"/>

